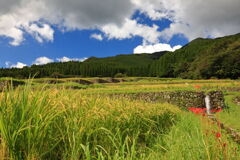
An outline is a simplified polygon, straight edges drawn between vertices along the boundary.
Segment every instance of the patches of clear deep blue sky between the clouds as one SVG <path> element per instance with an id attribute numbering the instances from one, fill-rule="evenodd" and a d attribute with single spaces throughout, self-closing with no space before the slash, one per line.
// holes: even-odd
<path id="1" fill-rule="evenodd" d="M 139 24 L 159 26 L 159 31 L 169 28 L 172 23 L 168 19 L 151 20 L 144 14 L 136 13 L 132 19 L 137 20 Z M 54 26 L 52 26 L 54 27 Z M 21 62 L 31 65 L 38 57 L 48 57 L 54 61 L 58 58 L 87 58 L 107 57 L 118 54 L 132 54 L 133 49 L 142 44 L 143 38 L 135 36 L 123 40 L 103 39 L 101 41 L 91 38 L 94 33 L 101 33 L 99 30 L 75 30 L 62 32 L 54 28 L 54 41 L 39 43 L 32 36 L 25 36 L 24 42 L 19 46 L 9 44 L 9 39 L 2 37 L 0 39 L 0 66 L 8 66 Z M 159 38 L 161 43 L 169 43 L 171 46 L 185 45 L 188 40 L 182 35 L 175 35 L 169 41 Z"/>

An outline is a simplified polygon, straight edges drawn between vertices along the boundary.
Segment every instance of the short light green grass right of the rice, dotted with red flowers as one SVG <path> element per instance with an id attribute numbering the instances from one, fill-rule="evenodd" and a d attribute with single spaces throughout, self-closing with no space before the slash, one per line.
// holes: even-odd
<path id="1" fill-rule="evenodd" d="M 216 137 L 219 134 L 220 137 Z M 211 120 L 200 115 L 182 113 L 170 133 L 160 139 L 149 159 L 212 160 L 240 158 L 240 146 Z M 164 154 L 163 152 L 164 151 Z"/>

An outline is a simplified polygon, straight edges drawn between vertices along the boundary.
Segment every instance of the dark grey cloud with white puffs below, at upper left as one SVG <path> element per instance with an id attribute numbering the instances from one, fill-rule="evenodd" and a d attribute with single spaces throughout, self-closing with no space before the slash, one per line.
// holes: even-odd
<path id="1" fill-rule="evenodd" d="M 120 25 L 133 12 L 129 0 L 9 0 L 0 3 L 0 36 L 17 46 L 29 33 L 39 42 L 53 40 L 52 24 L 64 31 Z M 37 24 L 41 24 L 42 27 Z"/>

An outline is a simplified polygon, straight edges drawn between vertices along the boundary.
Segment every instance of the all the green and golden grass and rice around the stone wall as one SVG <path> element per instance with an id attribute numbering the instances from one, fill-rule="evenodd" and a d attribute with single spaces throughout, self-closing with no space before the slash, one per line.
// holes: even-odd
<path id="1" fill-rule="evenodd" d="M 0 93 L 0 159 L 238 160 L 240 146 L 206 117 L 166 103 L 98 94 L 201 90 L 239 83 L 172 80 L 181 83 L 165 84 L 168 80 L 94 84 L 79 90 L 68 88 L 79 85 L 75 83 L 30 81 L 5 90 Z M 231 99 L 238 93 L 225 94 L 230 108 L 218 117 L 237 129 L 240 111 Z"/>

